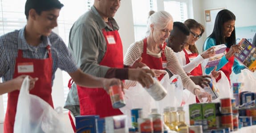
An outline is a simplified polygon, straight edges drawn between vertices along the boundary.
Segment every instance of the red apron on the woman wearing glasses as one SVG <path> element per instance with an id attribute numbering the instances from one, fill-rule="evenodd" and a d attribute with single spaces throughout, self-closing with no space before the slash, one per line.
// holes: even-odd
<path id="1" fill-rule="evenodd" d="M 196 56 L 198 56 L 197 53 L 192 53 L 192 54 L 187 54 L 187 51 L 185 49 L 183 49 L 184 53 L 185 53 L 185 57 L 186 57 L 186 64 L 190 63 L 190 59 L 195 58 Z M 202 66 L 201 64 L 199 64 L 197 67 L 195 67 L 194 70 L 192 70 L 190 72 L 191 75 L 193 76 L 202 76 L 203 75 L 203 71 L 202 71 Z M 195 97 L 195 101 L 197 103 L 199 103 L 200 101 L 197 99 L 197 97 Z"/>

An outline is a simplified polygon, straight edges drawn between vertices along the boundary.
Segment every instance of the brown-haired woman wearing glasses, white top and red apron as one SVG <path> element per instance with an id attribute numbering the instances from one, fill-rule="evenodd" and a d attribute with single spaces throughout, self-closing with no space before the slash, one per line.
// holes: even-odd
<path id="1" fill-rule="evenodd" d="M 204 32 L 204 27 L 202 24 L 198 23 L 193 19 L 188 19 L 184 24 L 190 30 L 190 35 L 188 36 L 187 43 L 184 44 L 183 51 L 176 53 L 180 64 L 183 66 L 183 70 L 191 76 L 202 76 L 203 71 L 201 63 L 204 59 L 210 58 L 215 55 L 213 48 L 204 51 L 201 55 L 195 46 L 195 42 L 202 36 Z M 211 74 L 214 77 L 218 77 L 219 73 L 213 70 Z M 196 102 L 199 100 L 196 98 Z"/>

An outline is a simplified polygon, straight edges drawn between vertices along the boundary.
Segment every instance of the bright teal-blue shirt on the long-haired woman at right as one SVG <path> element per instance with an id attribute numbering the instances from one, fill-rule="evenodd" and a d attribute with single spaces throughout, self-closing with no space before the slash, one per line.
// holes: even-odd
<path id="1" fill-rule="evenodd" d="M 203 51 L 206 51 L 207 49 L 209 49 L 210 47 L 212 46 L 215 46 L 216 45 L 216 40 L 214 38 L 207 38 L 204 42 L 204 45 L 203 45 Z M 225 66 L 226 64 L 228 63 L 228 59 L 226 58 L 226 56 L 224 55 L 221 59 L 220 59 L 220 62 L 219 64 L 217 65 L 217 69 L 216 70 L 219 70 L 221 69 L 223 66 Z M 245 69 L 246 67 L 241 65 L 236 59 L 234 61 L 234 64 L 232 66 L 232 71 L 235 73 L 235 74 L 239 74 L 241 72 L 241 70 Z M 206 68 L 205 69 L 205 73 L 206 74 L 210 74 L 211 71 L 214 69 L 214 67 L 209 67 L 209 68 Z"/>

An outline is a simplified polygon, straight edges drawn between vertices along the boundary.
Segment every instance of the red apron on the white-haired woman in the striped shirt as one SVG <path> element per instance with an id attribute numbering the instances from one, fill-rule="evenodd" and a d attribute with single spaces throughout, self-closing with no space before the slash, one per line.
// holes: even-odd
<path id="1" fill-rule="evenodd" d="M 147 47 L 147 43 L 146 43 L 146 38 L 143 40 L 143 53 L 141 55 L 142 57 L 142 63 L 145 63 L 150 69 L 157 69 L 157 70 L 164 70 L 167 67 L 167 60 L 166 60 L 166 56 L 164 54 L 164 49 L 165 49 L 166 43 L 159 45 L 160 49 L 161 49 L 161 56 L 162 58 L 157 58 L 151 55 L 146 54 L 146 47 Z M 160 75 L 158 77 L 158 80 L 160 81 L 163 78 L 164 74 Z"/>

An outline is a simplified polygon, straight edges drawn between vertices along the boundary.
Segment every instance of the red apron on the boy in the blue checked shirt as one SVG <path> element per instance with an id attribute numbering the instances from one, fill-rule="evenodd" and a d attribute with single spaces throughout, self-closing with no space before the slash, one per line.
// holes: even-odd
<path id="1" fill-rule="evenodd" d="M 49 42 L 49 41 L 48 41 Z M 22 50 L 18 50 L 18 57 L 16 58 L 15 70 L 13 78 L 16 78 L 22 74 L 30 75 L 31 77 L 39 78 L 36 82 L 35 87 L 29 91 L 30 94 L 37 95 L 44 99 L 53 107 L 52 100 L 52 68 L 53 60 L 51 55 L 50 46 L 47 47 L 49 57 L 47 59 L 28 59 L 23 58 Z M 18 73 L 18 66 L 22 65 L 33 65 L 33 72 Z M 17 100 L 20 91 L 15 90 L 8 93 L 7 110 L 4 120 L 4 133 L 13 133 Z"/>

